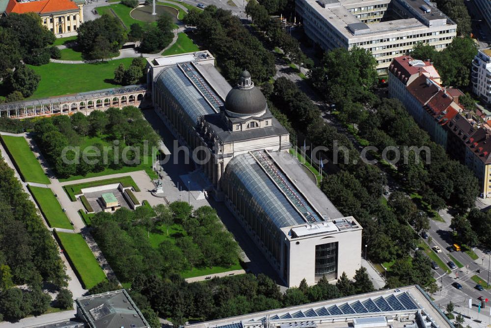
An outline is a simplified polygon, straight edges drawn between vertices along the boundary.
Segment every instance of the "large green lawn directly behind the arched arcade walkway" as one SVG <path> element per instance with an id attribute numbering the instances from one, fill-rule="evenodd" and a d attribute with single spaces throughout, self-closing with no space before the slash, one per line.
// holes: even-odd
<path id="1" fill-rule="evenodd" d="M 121 63 L 126 67 L 130 66 L 132 60 L 133 58 L 123 58 L 93 64 L 27 65 L 41 76 L 37 90 L 27 99 L 62 96 L 121 86 L 112 83 L 114 70 Z"/>

